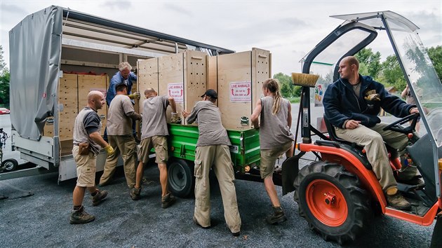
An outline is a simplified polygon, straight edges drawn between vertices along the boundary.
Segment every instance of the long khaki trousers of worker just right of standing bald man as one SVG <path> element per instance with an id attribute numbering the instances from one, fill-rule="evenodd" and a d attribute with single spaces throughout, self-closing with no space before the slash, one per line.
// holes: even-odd
<path id="1" fill-rule="evenodd" d="M 106 158 L 105 169 L 100 178 L 100 184 L 107 184 L 114 176 L 116 163 L 121 153 L 126 182 L 129 188 L 133 188 L 135 186 L 135 164 L 137 163 L 135 138 L 132 135 L 107 135 L 107 139 L 115 152 Z"/>

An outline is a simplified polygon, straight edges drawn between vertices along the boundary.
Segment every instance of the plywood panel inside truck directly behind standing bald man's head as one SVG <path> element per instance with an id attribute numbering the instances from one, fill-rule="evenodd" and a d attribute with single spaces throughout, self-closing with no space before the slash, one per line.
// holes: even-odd
<path id="1" fill-rule="evenodd" d="M 83 109 L 88 104 L 88 94 L 92 90 L 103 92 L 107 91 L 108 78 L 107 76 L 95 75 L 78 75 L 79 79 L 79 110 Z M 107 104 L 104 104 L 102 109 L 98 110 L 98 116 L 105 116 L 102 122 L 101 135 L 105 133 L 105 126 L 107 121 Z"/>

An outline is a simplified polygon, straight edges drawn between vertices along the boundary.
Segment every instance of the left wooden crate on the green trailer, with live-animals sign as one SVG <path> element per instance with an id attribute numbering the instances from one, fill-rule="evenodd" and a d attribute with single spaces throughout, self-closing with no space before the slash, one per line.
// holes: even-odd
<path id="1" fill-rule="evenodd" d="M 154 88 L 158 95 L 174 97 L 178 113 L 182 109 L 191 111 L 207 89 L 207 56 L 203 52 L 186 50 L 183 53 L 140 60 L 138 68 L 138 90 L 142 94 L 140 112 L 147 88 Z M 170 112 L 168 108 L 168 122 Z"/>

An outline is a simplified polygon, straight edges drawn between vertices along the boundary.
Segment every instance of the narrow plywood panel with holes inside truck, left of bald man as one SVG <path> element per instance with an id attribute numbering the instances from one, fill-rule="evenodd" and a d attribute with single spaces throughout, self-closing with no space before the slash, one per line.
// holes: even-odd
<path id="1" fill-rule="evenodd" d="M 75 116 L 78 114 L 77 75 L 63 74 L 58 88 L 58 104 L 60 106 L 58 135 L 60 141 L 72 139 Z M 43 136 L 53 137 L 55 125 L 45 125 Z"/>

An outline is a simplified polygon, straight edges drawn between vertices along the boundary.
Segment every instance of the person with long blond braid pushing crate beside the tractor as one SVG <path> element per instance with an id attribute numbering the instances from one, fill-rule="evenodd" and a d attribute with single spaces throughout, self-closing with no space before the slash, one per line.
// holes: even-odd
<path id="1" fill-rule="evenodd" d="M 292 108 L 290 102 L 281 97 L 279 82 L 276 79 L 269 78 L 264 81 L 262 92 L 264 97 L 257 100 L 250 120 L 253 127 L 260 130 L 260 174 L 274 211 L 266 221 L 275 224 L 287 220 L 273 183 L 273 172 L 279 156 L 283 153 L 286 153 L 287 157 L 293 155 L 293 135 L 290 132 Z"/>

